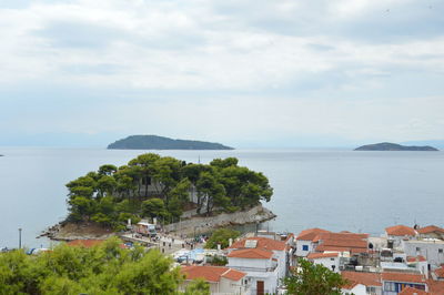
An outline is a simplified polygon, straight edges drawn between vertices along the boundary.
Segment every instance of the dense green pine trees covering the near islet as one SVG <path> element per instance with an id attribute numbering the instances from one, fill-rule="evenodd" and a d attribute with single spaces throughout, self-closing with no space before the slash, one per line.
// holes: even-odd
<path id="1" fill-rule="evenodd" d="M 211 216 L 269 202 L 273 189 L 261 172 L 239 166 L 238 159 L 186 163 L 154 153 L 120 167 L 105 164 L 67 184 L 67 222 L 100 224 L 120 231 L 129 218 L 178 222 L 185 210 Z"/>

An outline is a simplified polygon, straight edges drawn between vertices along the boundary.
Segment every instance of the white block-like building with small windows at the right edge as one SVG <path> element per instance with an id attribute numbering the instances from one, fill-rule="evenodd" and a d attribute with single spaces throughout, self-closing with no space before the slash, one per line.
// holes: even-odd
<path id="1" fill-rule="evenodd" d="M 402 241 L 402 247 L 407 256 L 424 256 L 431 266 L 440 266 L 444 263 L 444 241 L 442 240 Z"/>

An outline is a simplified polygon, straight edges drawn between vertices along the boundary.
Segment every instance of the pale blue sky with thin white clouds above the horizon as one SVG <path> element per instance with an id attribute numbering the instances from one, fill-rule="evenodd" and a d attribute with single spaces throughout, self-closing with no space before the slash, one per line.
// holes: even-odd
<path id="1" fill-rule="evenodd" d="M 0 145 L 444 140 L 442 0 L 0 0 Z"/>

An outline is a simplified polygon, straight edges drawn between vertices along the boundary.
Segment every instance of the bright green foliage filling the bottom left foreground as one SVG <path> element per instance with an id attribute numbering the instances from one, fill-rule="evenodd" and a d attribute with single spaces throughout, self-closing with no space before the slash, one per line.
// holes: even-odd
<path id="1" fill-rule="evenodd" d="M 60 245 L 38 256 L 0 253 L 0 294 L 181 294 L 183 276 L 171 258 L 120 244 L 110 238 L 92 248 Z M 209 294 L 202 282 L 189 291 Z"/>

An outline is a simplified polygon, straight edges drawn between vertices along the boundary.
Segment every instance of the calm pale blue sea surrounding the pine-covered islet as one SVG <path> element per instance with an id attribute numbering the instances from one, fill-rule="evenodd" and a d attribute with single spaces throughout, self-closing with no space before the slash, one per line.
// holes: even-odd
<path id="1" fill-rule="evenodd" d="M 0 148 L 0 247 L 28 247 L 67 215 L 64 184 L 102 164 L 125 164 L 144 151 Z M 236 156 L 274 187 L 265 206 L 274 231 L 307 227 L 381 234 L 393 224 L 444 226 L 444 152 L 341 150 L 155 151 L 188 162 Z"/>

